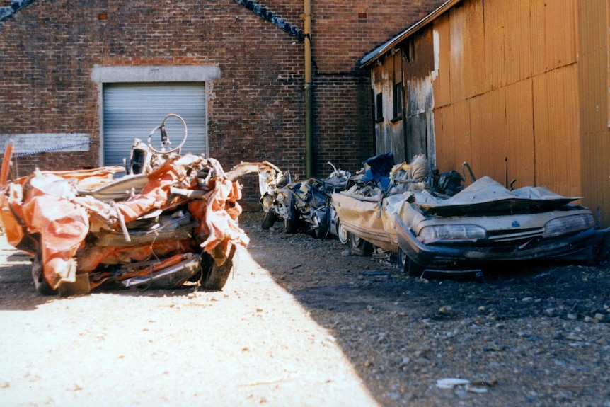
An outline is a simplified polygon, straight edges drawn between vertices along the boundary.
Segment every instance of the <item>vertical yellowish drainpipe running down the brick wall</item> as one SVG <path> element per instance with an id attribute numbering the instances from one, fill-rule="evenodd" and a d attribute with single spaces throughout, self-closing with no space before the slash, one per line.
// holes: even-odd
<path id="1" fill-rule="evenodd" d="M 311 88 L 311 0 L 304 0 L 305 35 L 305 171 L 313 177 L 313 90 Z"/>

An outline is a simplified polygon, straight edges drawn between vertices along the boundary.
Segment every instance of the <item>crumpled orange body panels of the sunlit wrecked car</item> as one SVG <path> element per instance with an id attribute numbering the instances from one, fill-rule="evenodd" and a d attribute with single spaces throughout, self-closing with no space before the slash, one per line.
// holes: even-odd
<path id="1" fill-rule="evenodd" d="M 7 184 L 0 194 L 0 215 L 8 243 L 35 255 L 30 236 L 40 234 L 40 253 L 44 275 L 53 289 L 62 282 L 74 282 L 77 273 L 95 270 L 100 263 L 129 263 L 173 251 L 188 251 L 189 242 L 176 241 L 175 246 L 144 243 L 142 246 L 98 247 L 87 236 L 96 231 L 121 233 L 120 219 L 128 223 L 143 214 L 176 205 L 185 197 L 171 195 L 171 187 L 180 185 L 200 190 L 202 199 L 189 200 L 188 208 L 197 220 L 196 233 L 205 241 L 202 248 L 218 265 L 226 260 L 234 244 L 246 246 L 248 236 L 238 227 L 241 185 L 229 180 L 214 160 L 214 176 L 205 185 L 197 185 L 187 173 L 205 160 L 186 154 L 168 160 L 148 175 L 141 192 L 116 202 L 97 200 L 83 191 L 113 183 L 113 174 L 121 167 L 102 167 L 86 171 L 37 171 L 28 178 Z M 213 159 L 207 159 L 208 161 Z M 179 202 L 178 202 L 179 203 Z M 95 239 L 91 239 L 95 240 Z"/>

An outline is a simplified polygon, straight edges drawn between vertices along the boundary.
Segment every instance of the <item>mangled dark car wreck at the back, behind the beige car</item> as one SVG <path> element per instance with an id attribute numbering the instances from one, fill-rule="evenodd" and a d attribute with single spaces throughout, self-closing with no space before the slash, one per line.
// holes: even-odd
<path id="1" fill-rule="evenodd" d="M 301 230 L 318 239 L 330 234 L 338 236 L 342 243 L 347 241 L 330 195 L 345 189 L 351 176 L 348 171 L 338 170 L 329 162 L 333 172 L 328 177 L 300 181 L 293 179 L 290 171 L 266 164 L 268 169 L 258 173 L 263 229 L 270 229 L 275 222 L 283 222 L 288 233 Z"/>

